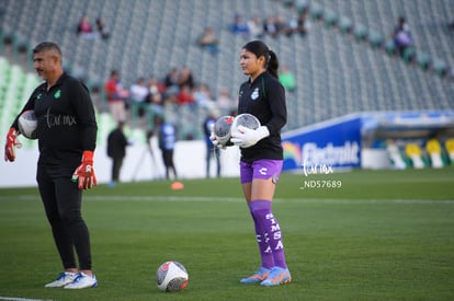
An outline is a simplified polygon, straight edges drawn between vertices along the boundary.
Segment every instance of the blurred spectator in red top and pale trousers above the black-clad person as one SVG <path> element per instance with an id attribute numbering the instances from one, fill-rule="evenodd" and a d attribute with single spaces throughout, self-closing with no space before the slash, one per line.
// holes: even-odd
<path id="1" fill-rule="evenodd" d="M 120 83 L 120 72 L 117 70 L 112 70 L 111 77 L 104 85 L 104 90 L 112 117 L 116 123 L 125 121 L 125 100 L 129 96 L 129 93 Z"/>

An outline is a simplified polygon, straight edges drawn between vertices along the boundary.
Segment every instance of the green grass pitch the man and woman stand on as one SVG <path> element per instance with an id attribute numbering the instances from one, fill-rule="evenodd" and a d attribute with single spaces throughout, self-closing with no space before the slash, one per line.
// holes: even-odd
<path id="1" fill-rule="evenodd" d="M 454 300 L 454 169 L 283 174 L 273 211 L 290 285 L 259 266 L 238 178 L 105 185 L 84 193 L 94 289 L 44 288 L 61 270 L 37 188 L 0 189 L 0 300 Z M 340 187 L 339 187 L 340 186 Z M 184 291 L 155 274 L 182 263 Z"/>

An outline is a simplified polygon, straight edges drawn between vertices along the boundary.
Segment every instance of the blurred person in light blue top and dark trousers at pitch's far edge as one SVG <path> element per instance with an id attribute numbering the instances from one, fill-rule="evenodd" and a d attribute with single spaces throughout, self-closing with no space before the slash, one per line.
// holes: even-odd
<path id="1" fill-rule="evenodd" d="M 170 173 L 173 173 L 173 177 L 177 178 L 177 169 L 173 163 L 173 150 L 177 142 L 177 129 L 170 124 L 166 123 L 163 117 L 156 117 L 156 129 L 158 134 L 158 144 L 162 152 L 162 161 L 166 167 L 166 178 L 170 180 Z"/>

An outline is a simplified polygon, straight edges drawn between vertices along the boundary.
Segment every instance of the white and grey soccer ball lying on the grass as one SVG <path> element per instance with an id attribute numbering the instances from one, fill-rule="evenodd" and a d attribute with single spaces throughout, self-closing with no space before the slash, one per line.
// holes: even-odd
<path id="1" fill-rule="evenodd" d="M 186 268 L 178 262 L 166 262 L 156 273 L 156 282 L 161 291 L 180 291 L 189 282 Z"/>

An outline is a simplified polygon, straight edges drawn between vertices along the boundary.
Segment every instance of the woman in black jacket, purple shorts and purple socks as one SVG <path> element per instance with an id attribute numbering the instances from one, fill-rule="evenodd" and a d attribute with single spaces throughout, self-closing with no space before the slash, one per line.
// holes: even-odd
<path id="1" fill-rule="evenodd" d="M 256 227 L 261 266 L 242 283 L 279 286 L 292 281 L 285 262 L 281 228 L 273 216 L 272 199 L 282 171 L 281 129 L 287 119 L 285 90 L 277 78 L 276 54 L 261 40 L 241 48 L 240 66 L 249 77 L 239 89 L 238 114 L 254 115 L 257 129 L 238 127 L 230 141 L 240 147 L 242 190 Z"/>

